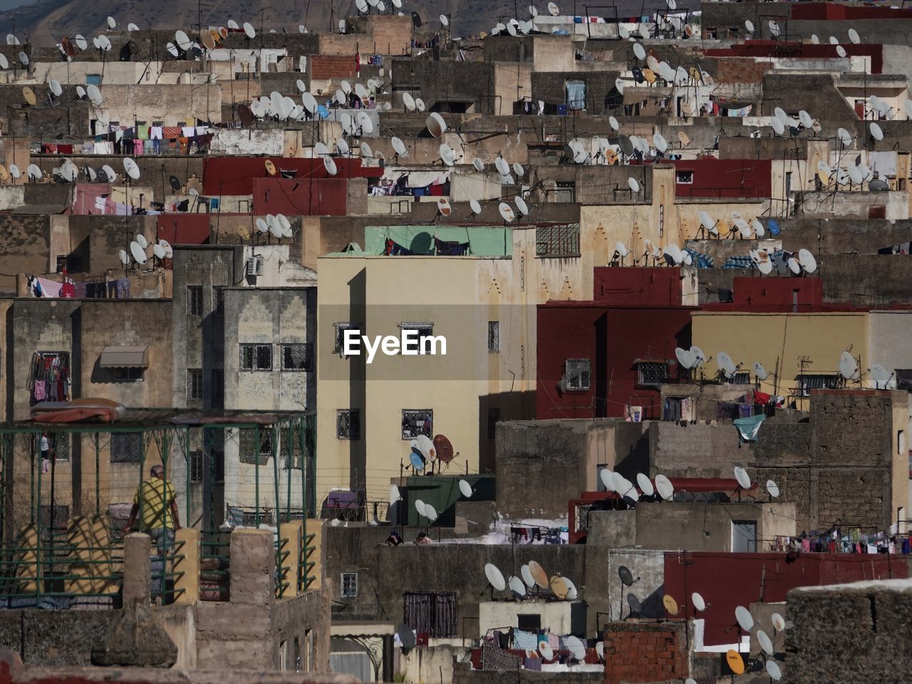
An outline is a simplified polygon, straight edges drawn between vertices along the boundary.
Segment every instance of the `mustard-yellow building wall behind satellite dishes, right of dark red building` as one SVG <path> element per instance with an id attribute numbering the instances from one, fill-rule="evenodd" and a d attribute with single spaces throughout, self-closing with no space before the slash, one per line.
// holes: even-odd
<path id="1" fill-rule="evenodd" d="M 808 389 L 835 387 L 839 382 L 839 359 L 844 351 L 850 350 L 862 375 L 876 362 L 868 354 L 869 318 L 865 312 L 700 311 L 691 317 L 691 332 L 693 344 L 712 357 L 704 367 L 708 376 L 719 368 L 719 352 L 727 353 L 740 366 L 739 373 L 750 373 L 751 382 L 756 378 L 753 365 L 760 362 L 769 373 L 760 382 L 760 390 L 793 398 L 797 408 L 807 409 Z M 858 387 L 868 384 L 865 379 Z"/>

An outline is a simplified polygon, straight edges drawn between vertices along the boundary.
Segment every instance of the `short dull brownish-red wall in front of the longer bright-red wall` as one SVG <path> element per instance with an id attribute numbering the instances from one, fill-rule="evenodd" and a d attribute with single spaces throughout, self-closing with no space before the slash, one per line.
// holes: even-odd
<path id="1" fill-rule="evenodd" d="M 254 212 L 345 216 L 347 178 L 254 178 Z"/>

